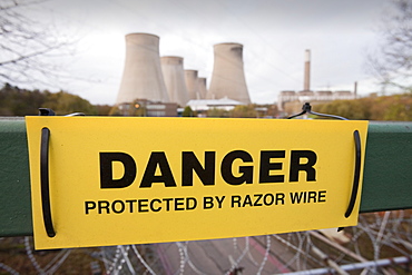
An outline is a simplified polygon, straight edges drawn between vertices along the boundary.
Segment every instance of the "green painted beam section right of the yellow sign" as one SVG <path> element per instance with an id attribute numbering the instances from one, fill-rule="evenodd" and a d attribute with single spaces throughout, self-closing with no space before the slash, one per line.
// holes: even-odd
<path id="1" fill-rule="evenodd" d="M 361 213 L 412 208 L 412 122 L 367 129 Z"/>

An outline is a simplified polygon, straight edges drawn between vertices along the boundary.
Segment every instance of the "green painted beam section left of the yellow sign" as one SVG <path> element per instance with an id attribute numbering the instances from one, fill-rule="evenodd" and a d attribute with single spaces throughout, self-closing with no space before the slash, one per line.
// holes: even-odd
<path id="1" fill-rule="evenodd" d="M 24 119 L 0 120 L 0 236 L 32 235 Z"/>

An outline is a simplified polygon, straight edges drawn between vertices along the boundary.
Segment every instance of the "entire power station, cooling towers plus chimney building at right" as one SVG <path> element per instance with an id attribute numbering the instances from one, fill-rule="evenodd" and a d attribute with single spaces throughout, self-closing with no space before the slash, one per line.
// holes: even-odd
<path id="1" fill-rule="evenodd" d="M 185 69 L 183 57 L 160 58 L 159 42 L 160 38 L 150 33 L 126 36 L 125 68 L 116 100 L 120 114 L 175 116 L 177 114 L 173 115 L 170 110 L 175 107 L 177 109 L 177 106 L 203 106 L 202 108 L 208 109 L 219 108 L 223 102 L 225 106 L 232 106 L 230 108 L 251 104 L 244 71 L 243 45 L 236 42 L 214 45 L 214 66 L 207 89 L 206 78 L 199 77 L 198 70 Z M 303 69 L 303 90 L 281 91 L 277 97 L 279 111 L 300 111 L 302 102 L 306 101 L 318 104 L 356 98 L 356 84 L 355 92 L 311 90 L 308 49 L 304 52 Z"/>

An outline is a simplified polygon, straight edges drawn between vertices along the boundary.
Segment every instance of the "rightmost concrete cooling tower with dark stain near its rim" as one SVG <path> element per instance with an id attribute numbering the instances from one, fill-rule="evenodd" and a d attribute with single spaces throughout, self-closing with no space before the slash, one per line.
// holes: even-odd
<path id="1" fill-rule="evenodd" d="M 207 98 L 230 99 L 251 104 L 243 70 L 243 46 L 218 43 L 214 46 L 215 60 Z"/>

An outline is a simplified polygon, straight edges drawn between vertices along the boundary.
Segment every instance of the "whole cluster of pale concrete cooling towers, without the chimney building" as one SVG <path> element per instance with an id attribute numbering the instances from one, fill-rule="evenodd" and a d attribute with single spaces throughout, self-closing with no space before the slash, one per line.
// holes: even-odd
<path id="1" fill-rule="evenodd" d="M 159 42 L 160 38 L 150 33 L 126 36 L 125 68 L 117 106 L 136 100 L 164 105 L 171 102 L 180 107 L 185 107 L 189 100 L 204 99 L 212 105 L 213 100 L 219 99 L 251 104 L 242 45 L 227 42 L 214 46 L 214 68 L 210 88 L 207 89 L 206 78 L 199 77 L 197 70 L 185 70 L 183 57 L 160 58 Z"/>

